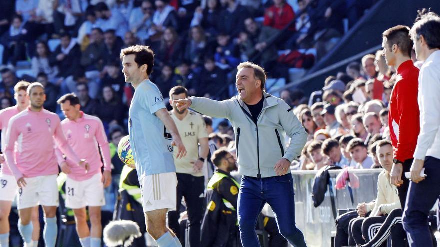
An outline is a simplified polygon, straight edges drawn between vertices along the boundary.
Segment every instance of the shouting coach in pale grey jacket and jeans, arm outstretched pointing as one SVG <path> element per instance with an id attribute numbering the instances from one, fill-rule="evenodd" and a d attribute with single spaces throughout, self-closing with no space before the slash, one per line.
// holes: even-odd
<path id="1" fill-rule="evenodd" d="M 259 246 L 255 224 L 264 203 L 276 214 L 280 233 L 295 247 L 305 245 L 295 226 L 293 179 L 290 163 L 302 151 L 307 133 L 291 108 L 264 92 L 266 74 L 244 62 L 237 67 L 239 96 L 224 101 L 201 97 L 177 100 L 177 107 L 212 117 L 227 118 L 235 131 L 238 172 L 243 175 L 238 195 L 238 220 L 244 247 Z M 285 149 L 284 135 L 290 138 Z"/>

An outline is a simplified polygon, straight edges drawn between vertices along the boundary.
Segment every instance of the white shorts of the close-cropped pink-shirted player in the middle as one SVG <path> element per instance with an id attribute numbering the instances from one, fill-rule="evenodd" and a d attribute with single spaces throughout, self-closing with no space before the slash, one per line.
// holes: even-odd
<path id="1" fill-rule="evenodd" d="M 56 174 L 24 178 L 26 186 L 18 189 L 17 207 L 25 209 L 37 205 L 58 206 Z"/>

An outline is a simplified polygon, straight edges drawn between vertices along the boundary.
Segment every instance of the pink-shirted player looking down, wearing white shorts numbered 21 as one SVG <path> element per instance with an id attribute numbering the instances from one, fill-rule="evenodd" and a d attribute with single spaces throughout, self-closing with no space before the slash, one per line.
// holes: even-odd
<path id="1" fill-rule="evenodd" d="M 79 98 L 74 93 L 63 95 L 58 101 L 66 116 L 61 122 L 68 143 L 80 156 L 87 159 L 90 169 L 84 175 L 82 167 L 70 162 L 61 166 L 67 174 L 65 205 L 75 213 L 76 231 L 83 247 L 100 247 L 102 236 L 101 206 L 105 204 L 104 187 L 111 183 L 111 158 L 104 125 L 97 117 L 84 114 Z M 102 154 L 99 155 L 99 147 Z M 102 165 L 104 172 L 101 173 Z M 88 228 L 85 207 L 88 206 L 91 229 Z"/>

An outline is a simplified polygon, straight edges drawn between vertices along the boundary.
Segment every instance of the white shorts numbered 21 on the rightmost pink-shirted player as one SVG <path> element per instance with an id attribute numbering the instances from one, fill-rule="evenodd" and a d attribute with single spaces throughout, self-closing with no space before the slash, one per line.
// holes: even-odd
<path id="1" fill-rule="evenodd" d="M 82 181 L 67 177 L 65 181 L 65 206 L 71 209 L 80 209 L 85 206 L 105 205 L 104 184 L 101 179 L 102 173 L 97 173 Z"/>

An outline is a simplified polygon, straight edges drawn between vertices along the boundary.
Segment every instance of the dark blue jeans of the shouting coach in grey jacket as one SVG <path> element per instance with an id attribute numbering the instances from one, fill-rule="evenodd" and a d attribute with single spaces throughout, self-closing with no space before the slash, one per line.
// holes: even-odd
<path id="1" fill-rule="evenodd" d="M 258 215 L 265 203 L 275 213 L 279 233 L 294 247 L 305 247 L 304 236 L 295 224 L 292 175 L 268 178 L 241 178 L 238 194 L 238 221 L 243 247 L 260 246 L 255 233 Z"/>

